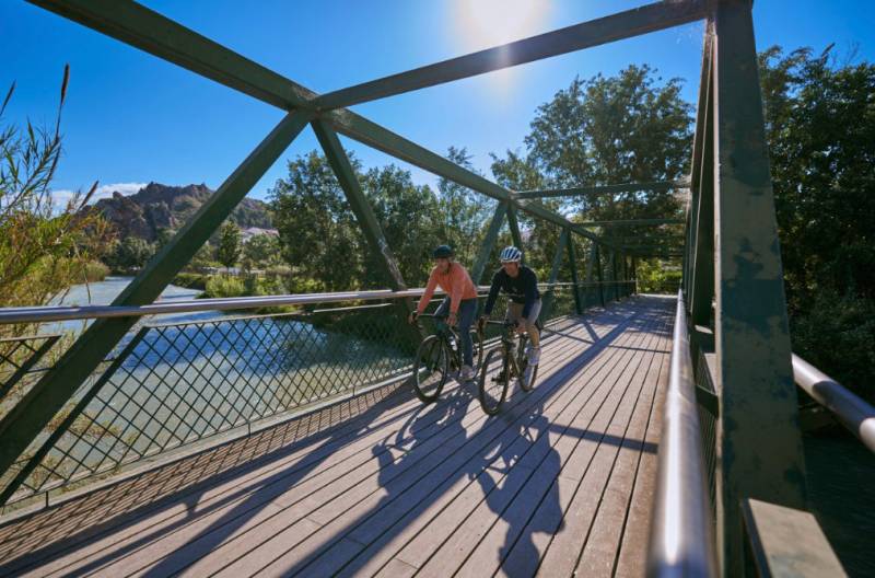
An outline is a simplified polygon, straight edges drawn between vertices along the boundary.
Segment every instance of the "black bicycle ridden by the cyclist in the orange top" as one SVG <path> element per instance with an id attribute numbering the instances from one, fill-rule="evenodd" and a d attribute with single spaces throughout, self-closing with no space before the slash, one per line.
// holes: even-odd
<path id="1" fill-rule="evenodd" d="M 418 317 L 434 319 L 438 325 L 435 333 L 419 344 L 413 358 L 413 391 L 422 403 L 429 404 L 441 395 L 451 371 L 457 372 L 462 369 L 462 343 L 458 331 L 443 322 L 445 315 L 422 313 Z M 470 333 L 474 344 L 472 361 L 477 368 L 483 359 L 483 343 L 476 330 L 471 328 Z"/>

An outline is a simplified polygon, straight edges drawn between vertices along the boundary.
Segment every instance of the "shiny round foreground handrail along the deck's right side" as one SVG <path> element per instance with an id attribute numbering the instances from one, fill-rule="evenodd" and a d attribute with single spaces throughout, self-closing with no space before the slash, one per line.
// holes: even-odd
<path id="1" fill-rule="evenodd" d="M 684 299 L 678 292 L 648 576 L 718 576 Z"/>

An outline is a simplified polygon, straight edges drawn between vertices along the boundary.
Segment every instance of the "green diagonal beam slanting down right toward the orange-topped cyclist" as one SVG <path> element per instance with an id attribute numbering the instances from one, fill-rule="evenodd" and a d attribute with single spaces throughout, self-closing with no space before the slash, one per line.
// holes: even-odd
<path id="1" fill-rule="evenodd" d="M 368 244 L 371 246 L 371 251 L 374 255 L 378 256 L 377 261 L 383 268 L 383 275 L 386 281 L 388 281 L 390 287 L 395 290 L 407 289 L 407 284 L 405 284 L 404 277 L 401 276 L 401 270 L 398 268 L 398 262 L 395 255 L 393 255 L 392 247 L 389 247 L 386 242 L 386 238 L 383 235 L 383 229 L 380 227 L 380 221 L 377 221 L 373 208 L 368 203 L 364 193 L 362 193 L 361 185 L 355 176 L 355 171 L 353 171 L 349 162 L 349 158 L 343 150 L 343 146 L 340 143 L 340 139 L 337 138 L 335 131 L 323 120 L 314 120 L 312 126 L 316 138 L 319 140 L 319 144 L 322 144 L 325 151 L 328 164 L 331 165 L 331 169 L 337 175 L 340 188 L 343 189 L 347 200 L 352 208 L 352 212 L 355 215 L 355 219 L 362 228 L 362 232 L 364 233 Z"/>

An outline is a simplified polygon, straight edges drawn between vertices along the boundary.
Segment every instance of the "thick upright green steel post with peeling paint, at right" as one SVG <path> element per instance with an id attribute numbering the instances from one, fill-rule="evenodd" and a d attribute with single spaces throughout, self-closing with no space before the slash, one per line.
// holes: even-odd
<path id="1" fill-rule="evenodd" d="M 804 509 L 805 462 L 749 0 L 714 23 L 718 540 L 744 576 L 742 499 Z"/>

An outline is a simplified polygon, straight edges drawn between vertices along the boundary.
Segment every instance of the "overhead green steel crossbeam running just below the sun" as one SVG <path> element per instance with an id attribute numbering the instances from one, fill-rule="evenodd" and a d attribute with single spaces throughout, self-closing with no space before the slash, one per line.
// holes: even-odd
<path id="1" fill-rule="evenodd" d="M 352 106 L 686 24 L 704 16 L 703 0 L 656 2 L 341 89 L 320 96 L 316 104 L 320 109 Z"/>

